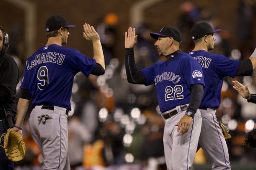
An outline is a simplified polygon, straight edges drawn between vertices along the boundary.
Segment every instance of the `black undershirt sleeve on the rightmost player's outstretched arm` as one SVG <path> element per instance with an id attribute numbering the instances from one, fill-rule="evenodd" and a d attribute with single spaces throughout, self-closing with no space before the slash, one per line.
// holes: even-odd
<path id="1" fill-rule="evenodd" d="M 242 60 L 236 71 L 235 76 L 251 76 L 253 74 L 253 64 L 251 60 L 248 58 L 246 60 Z"/>

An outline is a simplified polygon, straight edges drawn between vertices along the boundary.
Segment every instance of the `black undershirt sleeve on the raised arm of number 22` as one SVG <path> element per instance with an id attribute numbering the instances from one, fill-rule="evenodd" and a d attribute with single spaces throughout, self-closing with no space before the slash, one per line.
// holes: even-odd
<path id="1" fill-rule="evenodd" d="M 135 63 L 133 48 L 125 48 L 125 71 L 129 83 L 147 84 L 145 76 Z"/>

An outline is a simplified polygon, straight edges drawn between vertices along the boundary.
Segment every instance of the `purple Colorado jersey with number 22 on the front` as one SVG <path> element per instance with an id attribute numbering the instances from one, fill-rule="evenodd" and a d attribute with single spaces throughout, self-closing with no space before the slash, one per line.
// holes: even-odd
<path id="1" fill-rule="evenodd" d="M 193 84 L 204 85 L 204 75 L 200 64 L 187 53 L 167 61 L 155 63 L 142 69 L 147 84 L 155 84 L 161 112 L 190 102 L 190 87 Z"/>

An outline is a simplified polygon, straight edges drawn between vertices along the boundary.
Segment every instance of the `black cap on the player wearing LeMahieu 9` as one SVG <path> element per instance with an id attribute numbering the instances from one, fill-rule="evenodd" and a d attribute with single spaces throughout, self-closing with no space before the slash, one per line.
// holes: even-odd
<path id="1" fill-rule="evenodd" d="M 46 32 L 50 32 L 53 30 L 58 30 L 61 27 L 63 28 L 71 28 L 76 27 L 76 25 L 68 25 L 66 18 L 61 15 L 52 15 L 45 23 Z"/>

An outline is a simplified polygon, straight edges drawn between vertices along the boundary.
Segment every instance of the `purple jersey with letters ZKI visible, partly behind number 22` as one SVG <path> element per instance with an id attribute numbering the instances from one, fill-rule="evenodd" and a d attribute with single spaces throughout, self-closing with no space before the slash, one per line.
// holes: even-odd
<path id="1" fill-rule="evenodd" d="M 230 60 L 220 54 L 211 54 L 204 50 L 188 52 L 202 66 L 204 72 L 204 96 L 200 107 L 218 108 L 224 76 L 235 77 L 240 61 Z"/>

